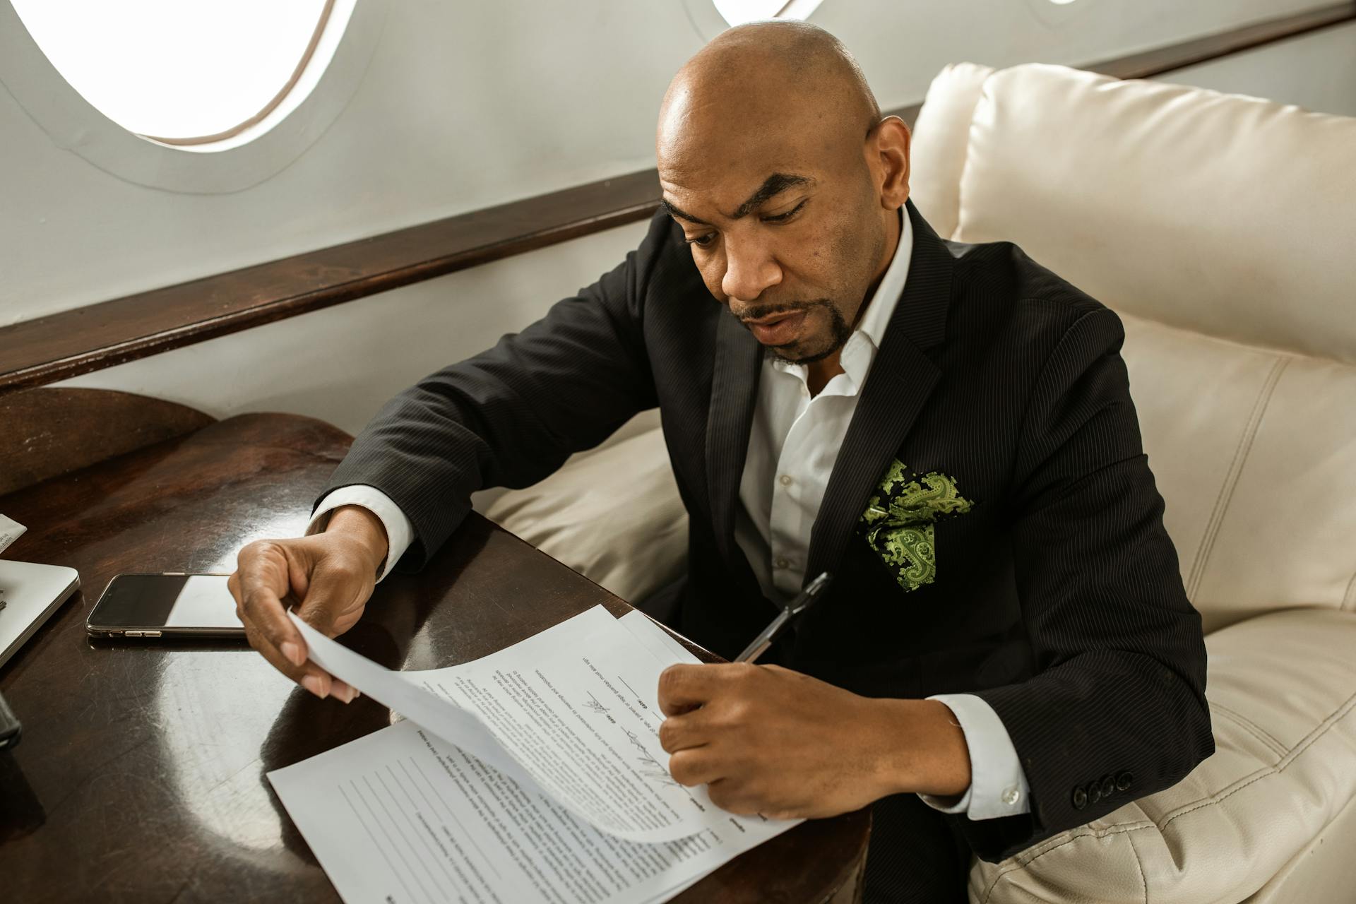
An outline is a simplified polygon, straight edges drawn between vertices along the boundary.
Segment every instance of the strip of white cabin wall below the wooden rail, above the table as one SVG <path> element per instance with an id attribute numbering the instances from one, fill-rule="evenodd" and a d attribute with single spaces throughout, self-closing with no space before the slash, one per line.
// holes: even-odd
<path id="1" fill-rule="evenodd" d="M 644 234 L 645 224 L 609 229 L 58 385 L 155 396 L 214 417 L 286 411 L 357 434 L 397 392 L 540 319 Z"/>

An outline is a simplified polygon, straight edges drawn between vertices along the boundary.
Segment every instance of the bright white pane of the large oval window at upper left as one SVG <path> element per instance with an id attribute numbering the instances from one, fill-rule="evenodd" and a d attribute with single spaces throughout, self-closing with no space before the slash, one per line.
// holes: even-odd
<path id="1" fill-rule="evenodd" d="M 199 150 L 278 107 L 311 62 L 334 3 L 12 0 L 52 65 L 103 115 L 144 138 Z"/>

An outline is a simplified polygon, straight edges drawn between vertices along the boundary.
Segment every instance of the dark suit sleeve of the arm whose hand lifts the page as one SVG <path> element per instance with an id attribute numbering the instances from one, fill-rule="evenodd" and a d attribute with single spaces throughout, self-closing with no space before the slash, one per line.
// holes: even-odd
<path id="1" fill-rule="evenodd" d="M 656 215 L 616 270 L 386 403 L 319 499 L 354 484 L 389 496 L 414 526 L 397 568 L 415 571 L 471 511 L 472 492 L 534 484 L 654 408 L 643 300 L 670 233 Z"/>

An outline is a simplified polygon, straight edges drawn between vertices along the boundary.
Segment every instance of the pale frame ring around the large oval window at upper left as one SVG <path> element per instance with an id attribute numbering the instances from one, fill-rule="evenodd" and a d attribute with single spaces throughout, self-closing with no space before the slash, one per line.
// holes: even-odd
<path id="1" fill-rule="evenodd" d="M 336 0 L 292 83 L 229 137 L 209 136 L 210 144 L 138 136 L 102 114 L 57 72 L 8 0 L 0 0 L 0 84 L 53 145 L 108 175 L 180 194 L 229 194 L 277 175 L 324 134 L 362 83 L 386 11 L 388 0 Z M 327 41 L 332 50 L 319 46 Z M 324 61 L 327 52 L 315 83 L 294 96 L 311 64 Z"/>

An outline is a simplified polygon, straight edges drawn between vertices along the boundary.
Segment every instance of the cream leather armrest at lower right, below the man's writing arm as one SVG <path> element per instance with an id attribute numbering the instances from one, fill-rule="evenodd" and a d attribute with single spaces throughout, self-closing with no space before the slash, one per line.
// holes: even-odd
<path id="1" fill-rule="evenodd" d="M 1336 828 L 1356 797 L 1356 614 L 1272 613 L 1205 644 L 1215 754 L 1168 790 L 976 862 L 971 901 L 1241 901 Z M 1326 843 L 1356 850 L 1356 823 L 1341 825 Z"/>

